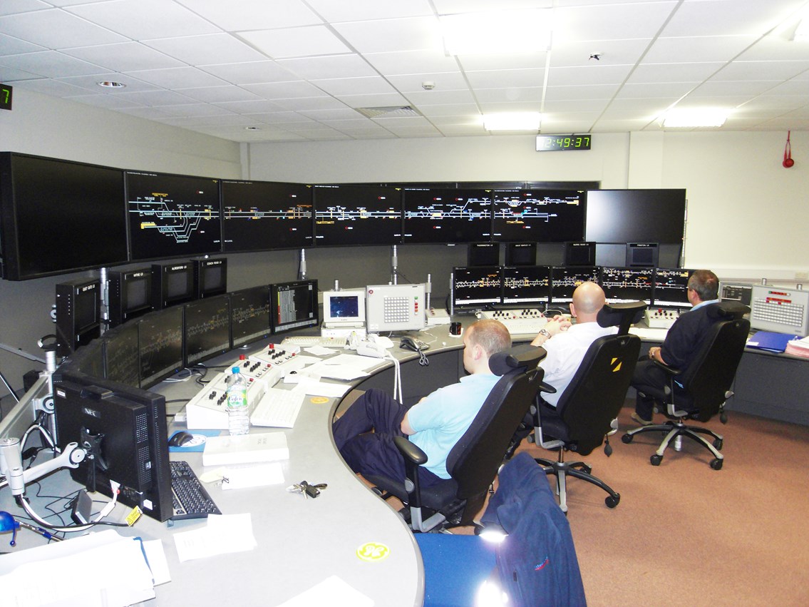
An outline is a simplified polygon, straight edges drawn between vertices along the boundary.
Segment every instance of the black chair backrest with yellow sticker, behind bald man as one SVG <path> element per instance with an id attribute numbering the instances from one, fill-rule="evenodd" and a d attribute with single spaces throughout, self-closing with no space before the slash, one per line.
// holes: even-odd
<path id="1" fill-rule="evenodd" d="M 630 334 L 599 337 L 587 349 L 557 402 L 571 451 L 587 455 L 604 442 L 624 405 L 640 350 L 640 337 Z"/>

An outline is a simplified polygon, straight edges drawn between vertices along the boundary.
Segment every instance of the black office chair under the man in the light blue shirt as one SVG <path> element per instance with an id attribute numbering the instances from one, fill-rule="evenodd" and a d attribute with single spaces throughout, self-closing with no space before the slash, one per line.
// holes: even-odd
<path id="1" fill-rule="evenodd" d="M 396 446 L 404 456 L 406 478 L 366 476 L 384 499 L 396 496 L 404 503 L 405 519 L 414 531 L 472 524 L 485 502 L 514 435 L 534 400 L 544 371 L 537 368 L 545 350 L 516 346 L 493 354 L 489 368 L 502 376 L 486 398 L 472 425 L 447 456 L 451 478 L 422 488 L 418 467 L 426 454 L 404 437 Z"/>

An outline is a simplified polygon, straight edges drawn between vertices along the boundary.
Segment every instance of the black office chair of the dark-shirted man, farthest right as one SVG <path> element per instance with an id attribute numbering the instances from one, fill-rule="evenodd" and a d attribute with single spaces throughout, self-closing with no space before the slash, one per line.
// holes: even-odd
<path id="1" fill-rule="evenodd" d="M 687 436 L 714 455 L 714 459 L 710 461 L 711 468 L 722 469 L 724 456 L 719 452 L 722 448 L 722 435 L 706 427 L 686 426 L 685 421 L 694 419 L 707 422 L 719 414 L 720 421 L 727 422 L 725 402 L 733 396 L 731 386 L 750 333 L 750 321 L 742 316 L 750 312 L 750 308 L 738 302 L 722 302 L 710 304 L 707 312 L 715 321 L 705 334 L 688 369 L 681 373 L 679 369 L 655 361 L 655 364 L 666 371 L 668 384 L 663 388 L 637 388 L 638 392 L 659 401 L 665 407 L 665 411 L 661 413 L 669 418 L 664 424 L 635 428 L 621 437 L 621 440 L 629 444 L 637 434 L 662 431 L 666 437 L 650 457 L 652 465 L 660 465 L 663 453 L 672 440 L 675 441 L 675 451 L 680 451 L 682 439 Z M 714 439 L 713 442 L 702 435 L 709 435 Z"/>

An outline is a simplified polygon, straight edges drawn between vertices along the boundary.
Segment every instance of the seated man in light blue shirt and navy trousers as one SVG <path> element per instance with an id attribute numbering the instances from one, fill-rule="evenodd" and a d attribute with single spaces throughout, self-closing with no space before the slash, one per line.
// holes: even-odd
<path id="1" fill-rule="evenodd" d="M 464 331 L 464 368 L 471 375 L 460 383 L 439 388 L 409 410 L 386 393 L 368 390 L 332 425 L 345 462 L 356 473 L 404 478 L 404 458 L 393 438 L 409 436 L 428 458 L 421 466 L 422 485 L 450 478 L 447 455 L 500 379 L 489 369 L 489 357 L 510 346 L 499 320 L 478 320 Z"/>

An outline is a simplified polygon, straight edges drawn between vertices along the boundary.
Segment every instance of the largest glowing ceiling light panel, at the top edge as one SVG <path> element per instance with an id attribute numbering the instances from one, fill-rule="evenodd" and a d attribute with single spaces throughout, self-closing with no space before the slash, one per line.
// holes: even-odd
<path id="1" fill-rule="evenodd" d="M 548 50 L 551 10 L 440 15 L 447 55 L 540 53 Z"/>

